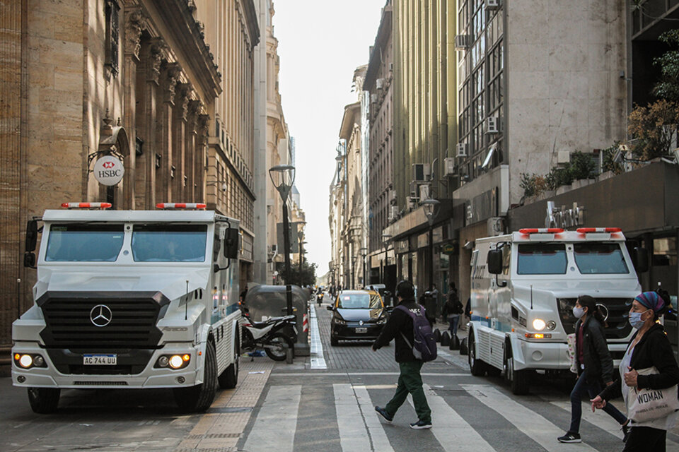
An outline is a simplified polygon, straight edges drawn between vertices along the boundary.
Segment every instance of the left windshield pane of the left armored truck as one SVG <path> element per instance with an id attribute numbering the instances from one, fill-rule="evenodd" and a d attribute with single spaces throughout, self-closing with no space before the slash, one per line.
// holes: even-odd
<path id="1" fill-rule="evenodd" d="M 82 223 L 51 225 L 45 261 L 115 261 L 124 239 L 122 227 Z"/>

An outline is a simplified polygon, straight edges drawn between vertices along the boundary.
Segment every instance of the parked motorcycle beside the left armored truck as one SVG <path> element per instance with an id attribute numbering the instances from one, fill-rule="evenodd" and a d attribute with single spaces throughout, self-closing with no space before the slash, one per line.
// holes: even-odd
<path id="1" fill-rule="evenodd" d="M 264 349 L 267 356 L 274 361 L 284 361 L 286 348 L 294 347 L 297 342 L 295 316 L 272 317 L 262 322 L 250 318 L 247 308 L 241 309 L 240 318 L 242 350 L 255 351 Z"/>

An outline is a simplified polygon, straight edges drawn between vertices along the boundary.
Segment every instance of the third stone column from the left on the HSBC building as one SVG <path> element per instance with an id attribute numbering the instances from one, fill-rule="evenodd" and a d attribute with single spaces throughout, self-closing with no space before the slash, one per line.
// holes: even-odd
<path id="1" fill-rule="evenodd" d="M 169 202 L 172 199 L 172 112 L 175 106 L 175 86 L 177 85 L 180 67 L 177 63 L 165 63 L 161 66 L 162 101 L 158 105 L 156 117 L 156 152 L 160 155 L 161 167 L 156 176 L 156 201 Z"/>

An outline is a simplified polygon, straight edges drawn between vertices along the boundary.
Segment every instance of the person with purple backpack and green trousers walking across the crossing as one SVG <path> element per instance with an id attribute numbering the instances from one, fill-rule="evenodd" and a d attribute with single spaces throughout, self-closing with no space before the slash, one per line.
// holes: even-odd
<path id="1" fill-rule="evenodd" d="M 415 302 L 415 290 L 410 281 L 401 281 L 396 286 L 396 298 L 398 304 L 406 307 L 414 314 L 419 314 L 422 308 Z M 398 386 L 393 398 L 382 408 L 375 407 L 375 411 L 386 422 L 391 422 L 398 408 L 405 402 L 408 394 L 412 396 L 412 403 L 417 412 L 417 422 L 412 422 L 412 429 L 431 429 L 431 410 L 426 403 L 424 388 L 422 388 L 422 369 L 423 362 L 415 359 L 412 353 L 413 343 L 413 321 L 408 314 L 401 309 L 394 309 L 389 320 L 385 324 L 382 333 L 372 345 L 374 351 L 388 345 L 392 339 L 395 340 L 395 359 L 400 367 L 398 376 Z"/>

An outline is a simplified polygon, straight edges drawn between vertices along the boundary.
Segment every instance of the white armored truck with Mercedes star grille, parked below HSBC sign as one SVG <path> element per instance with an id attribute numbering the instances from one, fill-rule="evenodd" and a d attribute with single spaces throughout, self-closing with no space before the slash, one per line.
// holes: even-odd
<path id="1" fill-rule="evenodd" d="M 31 408 L 56 410 L 62 388 L 173 388 L 182 410 L 204 411 L 218 383 L 235 387 L 238 220 L 204 204 L 62 206 L 27 227 L 37 283 L 13 323 L 12 381 Z"/>

